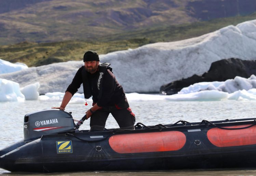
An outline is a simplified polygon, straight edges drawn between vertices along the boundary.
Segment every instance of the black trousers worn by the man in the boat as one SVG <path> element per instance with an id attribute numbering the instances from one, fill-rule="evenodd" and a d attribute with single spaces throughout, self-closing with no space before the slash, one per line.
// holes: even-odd
<path id="1" fill-rule="evenodd" d="M 109 113 L 116 119 L 120 128 L 134 130 L 135 115 L 130 107 L 118 109 L 116 106 L 104 106 L 90 117 L 90 131 L 103 131 Z"/>

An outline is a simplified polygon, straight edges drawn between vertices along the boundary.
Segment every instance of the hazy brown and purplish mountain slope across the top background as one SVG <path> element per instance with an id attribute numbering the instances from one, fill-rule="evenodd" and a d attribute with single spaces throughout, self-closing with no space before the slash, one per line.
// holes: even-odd
<path id="1" fill-rule="evenodd" d="M 255 0 L 2 0 L 1 4 L 0 45 L 97 39 L 256 11 Z"/>

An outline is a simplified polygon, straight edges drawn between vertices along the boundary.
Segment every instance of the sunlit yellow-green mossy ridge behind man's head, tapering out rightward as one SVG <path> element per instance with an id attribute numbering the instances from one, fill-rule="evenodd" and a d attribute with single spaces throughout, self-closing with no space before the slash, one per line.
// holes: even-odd
<path id="1" fill-rule="evenodd" d="M 82 60 L 86 50 L 107 54 L 117 50 L 137 48 L 148 44 L 148 39 L 133 39 L 111 42 L 63 41 L 53 43 L 22 42 L 0 46 L 0 58 L 10 62 L 22 62 L 29 67 L 69 60 Z"/>

